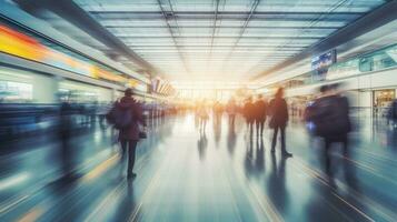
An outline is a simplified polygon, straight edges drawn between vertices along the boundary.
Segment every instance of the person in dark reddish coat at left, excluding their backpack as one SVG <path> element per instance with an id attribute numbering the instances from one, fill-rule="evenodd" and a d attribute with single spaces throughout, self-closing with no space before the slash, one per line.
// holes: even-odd
<path id="1" fill-rule="evenodd" d="M 127 128 L 120 129 L 119 131 L 119 141 L 121 143 L 122 155 L 121 159 L 125 160 L 125 157 L 128 152 L 128 169 L 127 178 L 132 179 L 137 174 L 132 172 L 136 157 L 137 143 L 140 139 L 140 125 L 146 127 L 146 121 L 143 118 L 143 110 L 140 103 L 138 103 L 132 98 L 132 90 L 127 89 L 125 91 L 125 97 L 120 99 L 116 105 L 119 105 L 121 109 L 128 109 L 131 111 L 131 122 Z"/>

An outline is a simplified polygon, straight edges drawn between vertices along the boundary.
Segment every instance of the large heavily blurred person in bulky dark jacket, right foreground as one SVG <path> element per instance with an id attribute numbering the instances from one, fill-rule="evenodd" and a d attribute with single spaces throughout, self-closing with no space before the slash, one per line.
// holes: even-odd
<path id="1" fill-rule="evenodd" d="M 329 152 L 334 143 L 341 143 L 344 155 L 349 157 L 349 102 L 340 94 L 338 88 L 338 84 L 322 85 L 320 97 L 315 101 L 310 114 L 316 134 L 324 139 L 325 171 L 328 175 L 331 174 Z"/>

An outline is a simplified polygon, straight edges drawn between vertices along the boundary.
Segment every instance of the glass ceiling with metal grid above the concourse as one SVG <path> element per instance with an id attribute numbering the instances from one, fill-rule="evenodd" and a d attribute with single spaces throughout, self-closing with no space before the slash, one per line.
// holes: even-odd
<path id="1" fill-rule="evenodd" d="M 172 81 L 244 82 L 386 0 L 75 2 Z"/>

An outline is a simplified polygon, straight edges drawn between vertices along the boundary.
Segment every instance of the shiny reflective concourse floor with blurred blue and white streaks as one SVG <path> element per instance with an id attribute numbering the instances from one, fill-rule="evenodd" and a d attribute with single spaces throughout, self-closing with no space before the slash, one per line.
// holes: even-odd
<path id="1" fill-rule="evenodd" d="M 133 181 L 110 129 L 70 141 L 77 176 L 68 179 L 59 142 L 21 139 L 1 151 L 0 221 L 396 221 L 396 130 L 358 123 L 351 155 L 333 149 L 333 178 L 299 122 L 287 130 L 294 158 L 284 159 L 270 152 L 269 129 L 251 135 L 240 119 L 210 120 L 205 133 L 192 114 L 156 120 Z"/>

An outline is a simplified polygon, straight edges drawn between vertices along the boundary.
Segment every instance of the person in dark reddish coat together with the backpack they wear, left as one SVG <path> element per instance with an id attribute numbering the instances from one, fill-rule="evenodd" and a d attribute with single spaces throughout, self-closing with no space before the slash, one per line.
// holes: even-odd
<path id="1" fill-rule="evenodd" d="M 119 130 L 119 141 L 121 143 L 121 160 L 125 161 L 128 155 L 127 178 L 133 179 L 137 176 L 133 170 L 136 149 L 138 141 L 145 138 L 145 131 L 140 130 L 140 125 L 146 128 L 142 105 L 133 98 L 132 89 L 125 91 L 125 97 L 115 103 L 112 110 L 108 113 L 108 120 Z"/>

